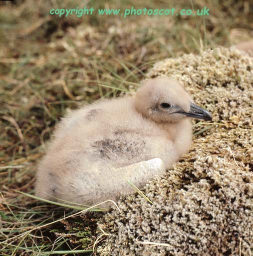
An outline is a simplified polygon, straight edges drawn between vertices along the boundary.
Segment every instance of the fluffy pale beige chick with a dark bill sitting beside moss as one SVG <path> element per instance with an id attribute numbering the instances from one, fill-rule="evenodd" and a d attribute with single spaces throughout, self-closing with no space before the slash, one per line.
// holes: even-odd
<path id="1" fill-rule="evenodd" d="M 38 166 L 36 195 L 92 205 L 160 175 L 187 152 L 189 117 L 211 120 L 181 84 L 150 79 L 135 97 L 103 100 L 63 118 Z"/>

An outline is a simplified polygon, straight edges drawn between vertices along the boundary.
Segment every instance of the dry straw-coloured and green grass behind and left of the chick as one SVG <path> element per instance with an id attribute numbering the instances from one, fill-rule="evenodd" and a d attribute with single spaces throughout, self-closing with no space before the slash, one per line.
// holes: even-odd
<path id="1" fill-rule="evenodd" d="M 191 4 L 172 0 L 169 6 L 180 9 L 191 8 Z M 35 163 L 55 123 L 69 108 L 131 92 L 158 60 L 253 37 L 250 0 L 196 0 L 193 4 L 194 8 L 208 6 L 211 15 L 205 19 L 96 14 L 58 18 L 49 15 L 50 8 L 80 3 L 0 2 L 1 255 L 93 251 L 96 219 L 101 213 L 39 228 L 76 210 L 39 202 L 18 191 L 33 194 Z M 88 3 L 95 9 L 132 5 L 163 8 L 168 1 Z"/>

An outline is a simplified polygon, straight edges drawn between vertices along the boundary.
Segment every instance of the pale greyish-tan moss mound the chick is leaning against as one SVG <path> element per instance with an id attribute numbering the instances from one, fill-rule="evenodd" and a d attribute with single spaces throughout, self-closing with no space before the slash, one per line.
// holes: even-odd
<path id="1" fill-rule="evenodd" d="M 213 122 L 194 124 L 193 144 L 141 195 L 122 196 L 100 221 L 102 255 L 250 255 L 253 250 L 253 59 L 234 48 L 185 54 L 149 77 L 183 82 Z M 155 244 L 152 244 L 155 243 Z M 160 243 L 160 245 L 159 245 Z"/>

